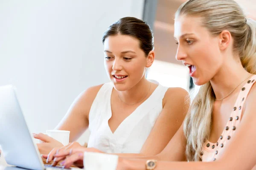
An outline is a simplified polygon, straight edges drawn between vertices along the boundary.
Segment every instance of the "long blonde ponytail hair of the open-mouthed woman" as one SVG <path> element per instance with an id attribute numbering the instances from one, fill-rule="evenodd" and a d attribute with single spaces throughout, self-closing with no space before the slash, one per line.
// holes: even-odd
<path id="1" fill-rule="evenodd" d="M 246 19 L 241 7 L 233 0 L 189 0 L 175 13 L 175 18 L 201 17 L 202 26 L 217 36 L 223 30 L 233 37 L 234 52 L 239 54 L 244 69 L 256 74 L 256 22 Z M 215 94 L 210 82 L 202 85 L 184 121 L 188 161 L 200 161 L 202 146 L 209 138 Z"/>

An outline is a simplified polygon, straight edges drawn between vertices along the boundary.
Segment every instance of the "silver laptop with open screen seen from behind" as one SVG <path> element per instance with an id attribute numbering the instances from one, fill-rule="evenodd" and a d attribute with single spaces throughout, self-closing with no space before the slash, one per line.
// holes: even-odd
<path id="1" fill-rule="evenodd" d="M 13 85 L 0 87 L 0 146 L 7 164 L 32 170 L 60 168 L 44 165 Z"/>

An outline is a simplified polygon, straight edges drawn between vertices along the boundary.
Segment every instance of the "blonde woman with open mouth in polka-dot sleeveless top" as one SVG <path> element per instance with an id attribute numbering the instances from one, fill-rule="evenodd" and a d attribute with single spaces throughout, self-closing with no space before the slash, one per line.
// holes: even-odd
<path id="1" fill-rule="evenodd" d="M 189 0 L 175 14 L 174 37 L 176 58 L 189 67 L 200 91 L 183 127 L 160 154 L 119 158 L 117 170 L 252 169 L 256 164 L 256 22 L 246 18 L 233 0 Z M 82 150 L 76 150 L 63 165 L 82 159 Z"/>

